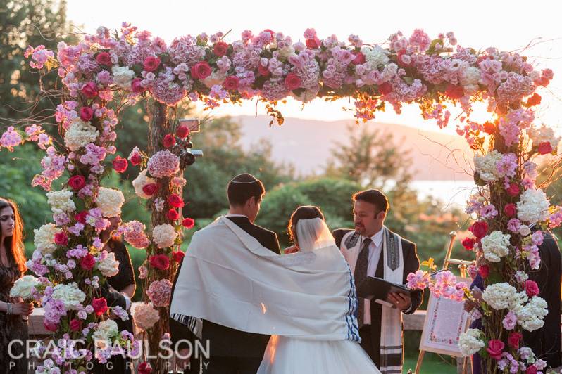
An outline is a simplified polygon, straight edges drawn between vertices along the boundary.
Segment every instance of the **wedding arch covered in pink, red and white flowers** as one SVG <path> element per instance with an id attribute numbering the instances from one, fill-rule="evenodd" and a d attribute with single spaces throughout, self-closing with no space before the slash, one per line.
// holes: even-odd
<path id="1" fill-rule="evenodd" d="M 115 153 L 113 128 L 118 114 L 109 108 L 117 101 L 135 103 L 149 94 L 159 102 L 151 110 L 151 134 L 156 136 L 149 155 L 135 149 L 129 161 L 142 167 L 135 190 L 142 198 L 151 198 L 154 228 L 146 235 L 144 226 L 133 221 L 120 230 L 133 246 L 147 248 L 141 275 L 151 279 L 145 290 L 145 300 L 151 303 L 139 307 L 135 319 L 156 340 L 163 331 L 154 323 L 159 316 L 167 318 L 170 257 L 181 257 L 172 248 L 180 243 L 182 228 L 177 212 L 185 183 L 180 156 L 189 148 L 187 131 L 175 128 L 169 107 L 187 97 L 204 101 L 207 108 L 259 97 L 269 103 L 270 114 L 282 120 L 275 102 L 287 96 L 303 102 L 348 96 L 356 99 L 357 120 L 373 118 L 386 103 L 400 112 L 403 103 L 416 102 L 425 119 L 445 127 L 450 117 L 446 104 L 453 102 L 465 112 L 457 131 L 477 151 L 475 181 L 480 186 L 467 208 L 475 214 L 470 226 L 474 238 L 463 244 L 483 252 L 480 272 L 487 283 L 481 305 L 483 331 L 470 330 L 461 346 L 466 354 L 492 352 L 485 355 L 490 373 L 509 370 L 513 362 L 519 371 L 542 368 L 529 349 L 513 344 L 513 337 L 523 328 L 539 328 L 546 313 L 544 300 L 527 287 L 526 269 L 539 266 L 537 245 L 542 240 L 540 231 L 531 234 L 528 226 L 537 223 L 546 228 L 562 222 L 562 208 L 550 207 L 544 192 L 535 187 L 537 165 L 532 162 L 537 154 L 555 154 L 558 146 L 551 129 L 533 124 L 533 107 L 540 101 L 535 91 L 549 84 L 551 70 L 536 71 L 517 53 L 497 49 L 477 53 L 456 46 L 452 33 L 433 40 L 422 30 L 409 38 L 397 33 L 385 46 L 363 44 L 354 35 L 349 44 L 333 35 L 320 40 L 313 29 L 306 30 L 304 38 L 305 43 L 294 43 L 271 30 L 257 35 L 246 31 L 232 44 L 218 33 L 180 37 L 166 46 L 149 32 L 124 24 L 113 38 L 100 27 L 76 46 L 61 43 L 56 56 L 42 46 L 27 50 L 32 67 L 57 68 L 67 94 L 56 112 L 65 147 L 47 148 L 44 172 L 33 184 L 49 191 L 51 181 L 65 169 L 70 179 L 67 188 L 48 194 L 55 224 L 36 231 L 37 248 L 29 265 L 42 278 L 22 282 L 20 288 L 32 287 L 35 299 L 41 299 L 46 323 L 59 344 L 87 340 L 86 357 L 54 352 L 54 362 L 48 361 L 42 370 L 48 372 L 53 365 L 68 370 L 70 364 L 83 368 L 91 359 L 92 352 L 87 352 L 94 338 L 118 334 L 111 322 L 101 321 L 106 306 L 95 297 L 104 276 L 115 271 L 115 261 L 101 250 L 98 234 L 123 202 L 118 191 L 100 186 L 106 156 Z M 470 120 L 470 112 L 473 103 L 483 100 L 492 120 L 480 124 Z M 37 126 L 28 127 L 25 134 L 10 128 L 1 145 L 13 147 L 25 139 L 39 141 L 40 146 L 50 140 Z M 126 166 L 127 160 L 113 160 L 117 172 Z M 192 226 L 192 221 L 184 224 Z M 423 272 L 411 276 L 413 286 L 423 288 L 428 283 Z M 450 276 L 438 278 L 430 288 L 450 297 L 461 298 L 465 292 Z M 509 329 L 503 327 L 506 318 L 513 322 Z M 130 334 L 124 333 L 125 338 L 130 339 Z M 108 354 L 98 352 L 102 360 Z M 161 370 L 160 363 L 153 363 Z"/>

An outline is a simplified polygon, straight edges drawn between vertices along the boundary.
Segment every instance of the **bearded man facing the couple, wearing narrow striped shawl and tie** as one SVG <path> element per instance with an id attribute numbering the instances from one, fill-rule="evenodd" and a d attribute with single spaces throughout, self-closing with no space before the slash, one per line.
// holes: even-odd
<path id="1" fill-rule="evenodd" d="M 384 278 L 393 283 L 406 283 L 408 273 L 417 271 L 420 261 L 416 244 L 397 236 L 385 226 L 389 210 L 384 193 L 370 189 L 352 196 L 355 230 L 338 229 L 332 232 L 354 273 L 355 285 L 367 276 Z M 411 314 L 422 302 L 422 291 L 408 297 L 390 293 L 383 306 L 375 300 L 358 298 L 357 321 L 361 347 L 373 359 L 381 373 L 402 373 L 401 313 Z"/>

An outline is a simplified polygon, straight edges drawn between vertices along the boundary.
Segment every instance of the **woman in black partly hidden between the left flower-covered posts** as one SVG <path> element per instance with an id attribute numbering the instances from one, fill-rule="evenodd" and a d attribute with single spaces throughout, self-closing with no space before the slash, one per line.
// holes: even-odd
<path id="1" fill-rule="evenodd" d="M 135 283 L 135 272 L 132 269 L 131 257 L 123 241 L 120 240 L 118 236 L 113 236 L 121 219 L 120 217 L 111 217 L 109 221 L 111 222 L 111 226 L 101 232 L 100 239 L 102 242 L 106 243 L 104 245 L 104 250 L 110 253 L 113 252 L 115 254 L 115 259 L 119 262 L 119 272 L 115 274 L 115 276 L 107 278 L 109 292 L 120 292 L 129 299 L 132 299 L 133 295 L 135 295 L 137 284 Z M 128 315 L 129 319 L 127 321 L 123 321 L 117 316 L 112 316 L 112 318 L 117 323 L 119 331 L 127 330 L 133 333 L 132 316 L 130 313 L 128 313 Z M 111 365 L 105 366 L 105 372 L 132 373 L 132 363 L 129 359 L 125 359 L 121 356 L 113 356 L 110 361 Z"/>

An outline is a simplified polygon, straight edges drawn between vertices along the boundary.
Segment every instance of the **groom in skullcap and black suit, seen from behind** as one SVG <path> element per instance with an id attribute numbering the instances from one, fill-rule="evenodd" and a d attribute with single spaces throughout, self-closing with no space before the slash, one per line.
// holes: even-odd
<path id="1" fill-rule="evenodd" d="M 249 233 L 263 245 L 263 247 L 280 254 L 279 241 L 273 231 L 266 230 L 254 224 L 258 215 L 261 200 L 266 193 L 263 183 L 251 174 L 239 174 L 235 176 L 227 187 L 228 202 L 230 210 L 226 215 L 234 224 Z M 226 253 L 225 256 L 228 254 Z M 172 299 L 174 297 L 175 283 L 180 274 L 177 269 L 172 288 Z M 171 305 L 171 302 L 170 302 Z M 180 319 L 181 321 L 177 321 Z M 173 316 L 170 318 L 170 333 L 172 342 L 187 339 L 191 342 L 198 339 L 187 324 L 192 323 L 193 318 L 188 316 Z M 268 335 L 245 333 L 223 325 L 218 325 L 210 321 L 203 320 L 200 332 L 202 344 L 205 347 L 206 341 L 210 344 L 210 358 L 208 362 L 200 365 L 195 360 L 189 363 L 189 370 L 186 373 L 199 373 L 199 366 L 207 374 L 255 374 L 258 370 L 263 353 L 268 344 Z M 185 348 L 182 349 L 182 356 L 186 356 Z M 205 359 L 204 359 L 205 361 Z"/>

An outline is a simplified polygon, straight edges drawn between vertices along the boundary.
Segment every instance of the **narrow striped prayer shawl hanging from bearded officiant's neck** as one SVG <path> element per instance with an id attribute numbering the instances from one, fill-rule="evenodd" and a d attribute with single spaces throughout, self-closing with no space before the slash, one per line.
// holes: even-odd
<path id="1" fill-rule="evenodd" d="M 382 261 L 385 280 L 402 284 L 404 280 L 404 252 L 401 237 L 383 227 Z M 354 237 L 355 236 L 355 237 Z M 361 242 L 355 231 L 346 233 L 342 238 L 342 254 L 351 271 L 355 270 L 361 251 Z M 382 305 L 380 327 L 380 372 L 382 374 L 402 373 L 402 312 Z"/>

